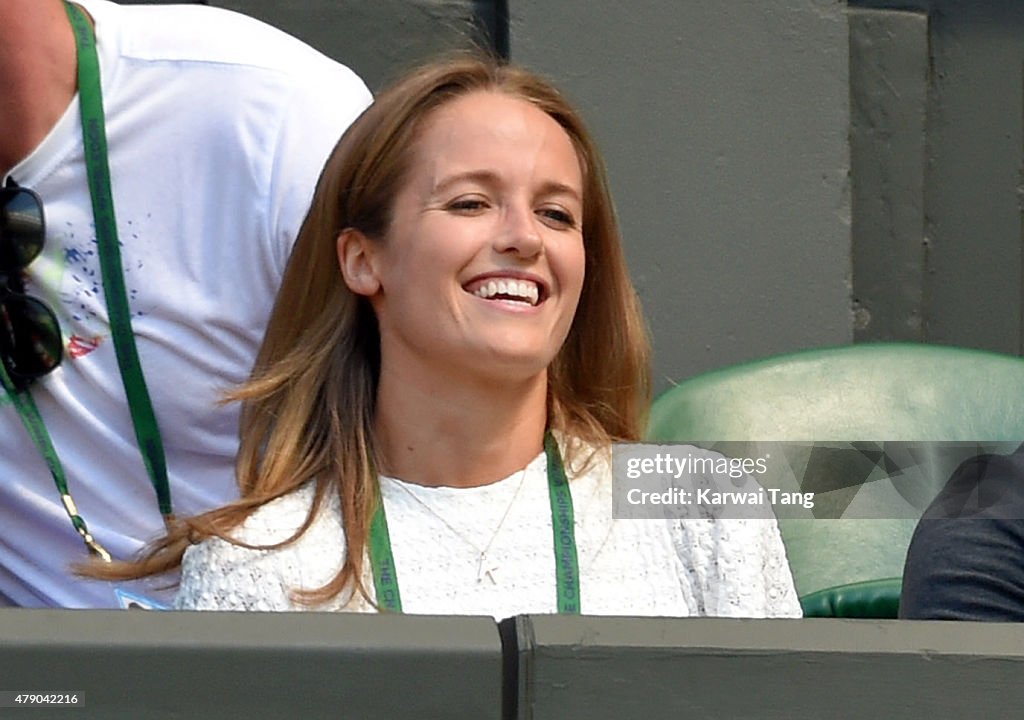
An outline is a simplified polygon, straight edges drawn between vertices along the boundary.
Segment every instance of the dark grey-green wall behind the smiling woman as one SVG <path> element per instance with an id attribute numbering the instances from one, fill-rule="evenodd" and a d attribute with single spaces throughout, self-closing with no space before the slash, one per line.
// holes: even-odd
<path id="1" fill-rule="evenodd" d="M 657 389 L 853 341 L 1021 353 L 1024 3 L 209 0 L 372 87 L 497 43 L 605 151 Z"/>

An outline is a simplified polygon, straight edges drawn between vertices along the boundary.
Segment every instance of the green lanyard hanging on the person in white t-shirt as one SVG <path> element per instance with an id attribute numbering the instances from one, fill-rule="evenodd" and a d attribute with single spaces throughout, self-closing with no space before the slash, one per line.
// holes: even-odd
<path id="1" fill-rule="evenodd" d="M 131 310 L 125 290 L 124 271 L 121 264 L 121 250 L 118 241 L 117 221 L 114 215 L 114 197 L 111 190 L 111 170 L 106 160 L 106 129 L 103 122 L 103 98 L 99 84 L 99 58 L 96 55 L 96 39 L 83 10 L 77 5 L 65 3 L 68 17 L 75 32 L 78 48 L 78 91 L 82 115 L 82 141 L 85 145 L 85 165 L 89 177 L 89 195 L 92 198 L 92 215 L 96 226 L 96 241 L 99 249 L 100 274 L 103 295 L 110 315 L 111 334 L 121 371 L 121 381 L 128 398 L 135 438 L 138 441 L 146 472 L 157 492 L 157 503 L 165 521 L 172 517 L 171 491 L 167 481 L 167 463 L 164 459 L 164 444 L 157 427 L 157 417 L 145 387 L 142 367 L 135 348 L 135 336 L 131 329 Z M 65 510 L 75 530 L 82 537 L 90 552 L 104 560 L 110 553 L 89 534 L 85 520 L 78 514 L 75 501 L 68 491 L 68 480 L 63 467 L 53 448 L 53 441 L 46 430 L 42 416 L 29 392 L 14 389 L 6 371 L 0 364 L 0 381 L 10 396 L 22 422 L 40 455 L 46 461 Z"/>

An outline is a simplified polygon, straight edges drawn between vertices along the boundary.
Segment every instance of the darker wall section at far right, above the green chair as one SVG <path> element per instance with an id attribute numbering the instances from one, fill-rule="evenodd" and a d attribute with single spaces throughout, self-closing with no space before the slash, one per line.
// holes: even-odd
<path id="1" fill-rule="evenodd" d="M 1020 354 L 1024 4 L 879 5 L 851 15 L 856 337 Z"/>

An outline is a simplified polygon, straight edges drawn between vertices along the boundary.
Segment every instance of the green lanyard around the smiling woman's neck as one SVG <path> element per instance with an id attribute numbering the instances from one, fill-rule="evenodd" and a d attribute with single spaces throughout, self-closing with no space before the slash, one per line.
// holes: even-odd
<path id="1" fill-rule="evenodd" d="M 577 560 L 572 494 L 565 477 L 558 443 L 550 432 L 544 436 L 544 453 L 548 460 L 548 499 L 551 502 L 558 611 L 563 615 L 580 615 L 580 564 Z M 401 593 L 398 591 L 398 575 L 391 553 L 391 537 L 388 534 L 383 499 L 370 523 L 370 563 L 373 566 L 377 604 L 382 609 L 401 612 Z"/>

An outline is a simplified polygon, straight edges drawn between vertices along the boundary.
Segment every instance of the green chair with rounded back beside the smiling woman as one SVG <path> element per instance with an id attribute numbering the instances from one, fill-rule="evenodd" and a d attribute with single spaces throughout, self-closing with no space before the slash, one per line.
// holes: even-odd
<path id="1" fill-rule="evenodd" d="M 1007 441 L 1012 449 L 1024 439 L 1024 359 L 904 343 L 770 357 L 666 391 L 651 409 L 648 439 Z M 933 494 L 951 469 L 933 473 Z M 780 519 L 805 615 L 895 618 L 915 524 L 906 516 Z"/>

